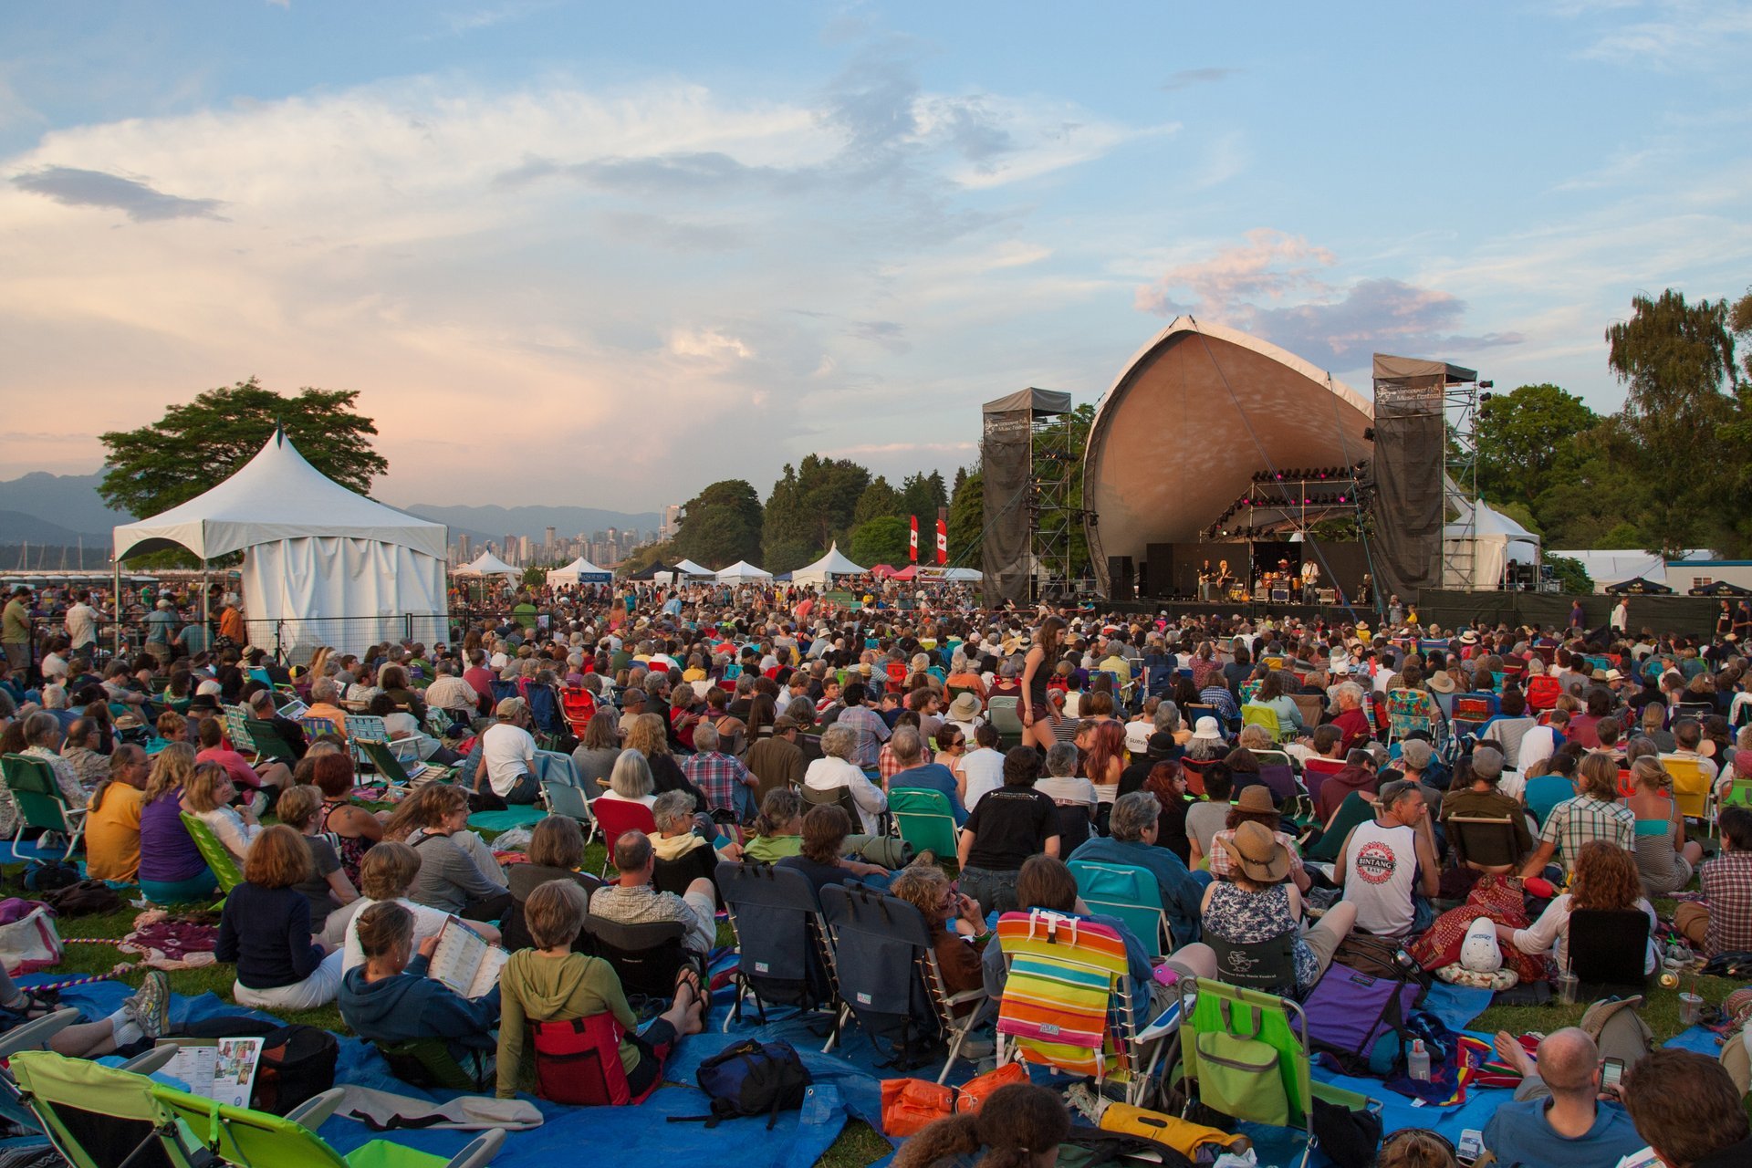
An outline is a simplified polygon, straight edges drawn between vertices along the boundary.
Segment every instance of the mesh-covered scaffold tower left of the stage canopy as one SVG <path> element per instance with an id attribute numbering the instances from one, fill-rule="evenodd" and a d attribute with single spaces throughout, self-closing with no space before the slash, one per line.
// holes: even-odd
<path id="1" fill-rule="evenodd" d="M 981 408 L 979 473 L 985 489 L 981 567 L 985 601 L 1028 604 L 1035 581 L 1070 578 L 1070 485 L 1081 450 L 1070 448 L 1070 394 L 1023 389 Z"/>

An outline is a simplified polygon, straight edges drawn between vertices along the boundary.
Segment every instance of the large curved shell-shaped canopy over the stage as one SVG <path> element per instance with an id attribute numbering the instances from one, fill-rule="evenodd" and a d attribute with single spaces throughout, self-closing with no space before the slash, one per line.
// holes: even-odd
<path id="1" fill-rule="evenodd" d="M 1256 336 L 1176 317 L 1125 366 L 1095 408 L 1083 506 L 1107 555 L 1144 560 L 1153 543 L 1191 543 L 1260 471 L 1347 466 L 1374 455 L 1374 406 L 1325 369 Z"/>

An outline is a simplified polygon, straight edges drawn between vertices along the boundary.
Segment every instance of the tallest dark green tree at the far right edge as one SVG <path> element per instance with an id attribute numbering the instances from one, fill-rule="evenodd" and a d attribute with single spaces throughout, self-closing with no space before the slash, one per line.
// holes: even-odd
<path id="1" fill-rule="evenodd" d="M 1607 329 L 1607 364 L 1624 382 L 1626 429 L 1649 485 L 1642 524 L 1650 550 L 1677 553 L 1733 531 L 1738 490 L 1699 473 L 1698 454 L 1734 422 L 1734 338 L 1727 301 L 1687 303 L 1666 289 L 1631 299 L 1631 319 Z"/>

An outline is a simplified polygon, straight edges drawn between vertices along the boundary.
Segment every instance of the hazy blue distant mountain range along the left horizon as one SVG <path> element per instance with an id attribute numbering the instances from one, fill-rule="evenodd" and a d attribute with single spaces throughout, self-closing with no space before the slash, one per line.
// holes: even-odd
<path id="1" fill-rule="evenodd" d="M 0 482 L 0 545 L 109 546 L 110 529 L 126 524 L 131 515 L 110 510 L 98 496 L 96 475 L 47 475 L 32 471 L 21 478 Z M 499 543 L 505 536 L 541 539 L 548 527 L 557 536 L 592 534 L 610 527 L 657 531 L 657 511 L 627 515 L 580 506 L 431 506 L 417 503 L 403 508 L 420 518 L 450 527 L 450 539 L 468 532 L 482 543 Z"/>

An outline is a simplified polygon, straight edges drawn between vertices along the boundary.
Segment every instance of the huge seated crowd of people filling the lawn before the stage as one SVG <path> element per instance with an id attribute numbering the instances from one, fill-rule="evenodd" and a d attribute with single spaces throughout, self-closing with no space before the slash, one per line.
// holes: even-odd
<path id="1" fill-rule="evenodd" d="M 1442 630 L 888 601 L 780 585 L 520 594 L 449 644 L 317 648 L 296 667 L 223 634 L 105 660 L 96 637 L 72 639 L 84 623 L 68 608 L 67 641 L 0 678 L 0 748 L 42 760 L 68 804 L 89 807 L 91 874 L 138 881 L 154 902 L 214 893 L 189 820 L 210 832 L 244 879 L 219 933 L 240 1003 L 338 1002 L 370 1040 L 492 1051 L 499 1094 L 540 1079 L 531 1026 L 603 1014 L 627 1082 L 655 1082 L 703 1026 L 699 963 L 639 1030 L 580 932 L 676 921 L 703 958 L 720 860 L 790 867 L 816 890 L 887 890 L 936 930 L 951 991 L 995 996 L 1006 963 L 990 921 L 1016 909 L 1116 928 L 1135 991 L 1156 996 L 1158 965 L 1218 977 L 1212 944 L 1288 939 L 1274 989 L 1289 996 L 1360 933 L 1430 963 L 1444 911 L 1498 904 L 1505 884 L 1501 963 L 1537 979 L 1568 967 L 1582 909 L 1645 914 L 1657 968 L 1654 902 L 1692 886 L 1673 921 L 1684 944 L 1701 960 L 1752 951 L 1752 728 L 1740 727 L 1752 697 L 1733 625 Z M 284 716 L 293 695 L 303 709 Z M 289 758 L 238 749 L 224 713 L 238 706 Z M 350 713 L 384 718 L 398 756 L 454 765 L 454 781 L 371 806 Z M 564 816 L 545 818 L 517 863 L 468 827 L 471 811 L 538 802 L 555 772 L 597 821 L 639 823 L 606 841 L 608 883 L 580 872 L 582 834 Z M 944 797 L 957 855 L 897 863 L 885 813 L 904 790 Z M 1687 814 L 1698 799 L 1703 813 Z M 0 830 L 16 814 L 0 797 Z M 1480 820 L 1505 828 L 1493 855 L 1468 846 Z M 1165 953 L 1151 960 L 1123 921 L 1083 905 L 1067 869 L 1079 860 L 1153 876 Z M 515 949 L 489 995 L 427 977 L 447 926 Z M 1696 1150 L 1682 1108 L 1636 1098 L 1677 1073 L 1666 1052 L 1624 1080 L 1628 1110 L 1596 1107 L 1575 1033 L 1547 1035 L 1522 1068 L 1486 1133 L 1501 1163 Z M 1039 1096 L 1018 1096 L 1027 1115 L 993 1143 L 997 1101 L 932 1136 L 937 1152 L 916 1150 L 920 1136 L 902 1157 L 1011 1147 L 1030 1124 L 1039 1136 L 1020 1147 L 1044 1156 L 1058 1128 Z M 1563 1159 L 1547 1157 L 1552 1140 Z"/>

